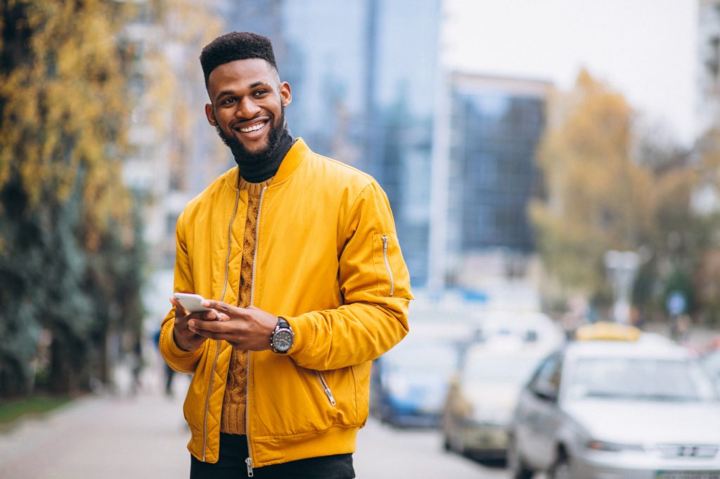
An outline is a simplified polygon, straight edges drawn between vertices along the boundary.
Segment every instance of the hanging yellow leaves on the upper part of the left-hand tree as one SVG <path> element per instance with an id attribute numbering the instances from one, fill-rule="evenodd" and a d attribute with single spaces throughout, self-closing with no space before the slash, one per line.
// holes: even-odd
<path id="1" fill-rule="evenodd" d="M 81 188 L 89 229 L 130 211 L 117 165 L 129 117 L 116 43 L 123 11 L 97 0 L 32 2 L 18 20 L 32 28 L 29 44 L 17 45 L 30 48 L 27 58 L 0 82 L 0 187 L 14 171 L 31 207 Z"/>

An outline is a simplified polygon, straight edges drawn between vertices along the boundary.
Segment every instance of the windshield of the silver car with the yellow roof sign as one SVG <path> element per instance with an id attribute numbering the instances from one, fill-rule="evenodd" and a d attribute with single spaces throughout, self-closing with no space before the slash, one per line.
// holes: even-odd
<path id="1" fill-rule="evenodd" d="M 629 398 L 647 401 L 717 399 L 696 362 L 645 358 L 584 358 L 575 363 L 571 398 Z"/>

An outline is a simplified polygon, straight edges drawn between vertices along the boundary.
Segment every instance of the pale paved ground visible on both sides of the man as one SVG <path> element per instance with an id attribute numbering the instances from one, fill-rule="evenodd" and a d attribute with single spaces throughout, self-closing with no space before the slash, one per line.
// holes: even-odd
<path id="1" fill-rule="evenodd" d="M 187 379 L 176 378 L 176 394 L 166 398 L 160 369 L 149 369 L 135 396 L 122 387 L 116 395 L 87 396 L 0 433 L 0 478 L 186 478 L 189 434 L 181 407 Z M 128 380 L 119 374 L 121 386 Z M 357 448 L 358 478 L 508 478 L 502 468 L 444 452 L 437 432 L 393 429 L 373 419 Z"/>

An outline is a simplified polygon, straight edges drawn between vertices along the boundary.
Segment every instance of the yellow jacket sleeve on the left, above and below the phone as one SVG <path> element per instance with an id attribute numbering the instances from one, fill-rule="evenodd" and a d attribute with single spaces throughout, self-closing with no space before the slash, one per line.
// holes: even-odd
<path id="1" fill-rule="evenodd" d="M 192 270 L 187 250 L 187 243 L 184 234 L 184 214 L 178 218 L 175 229 L 175 278 L 173 291 L 189 293 L 195 291 L 192 281 Z M 192 374 L 202 357 L 202 352 L 207 347 L 207 341 L 197 350 L 181 350 L 173 338 L 173 327 L 175 324 L 175 306 L 173 306 L 163 319 L 160 331 L 159 346 L 160 352 L 168 365 L 179 373 Z"/>

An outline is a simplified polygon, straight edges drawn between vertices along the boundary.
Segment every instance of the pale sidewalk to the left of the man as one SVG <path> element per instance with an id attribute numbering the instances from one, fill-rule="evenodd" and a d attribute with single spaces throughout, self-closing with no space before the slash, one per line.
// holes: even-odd
<path id="1" fill-rule="evenodd" d="M 176 378 L 176 391 L 186 381 Z M 184 394 L 160 391 L 150 383 L 136 396 L 88 396 L 0 433 L 0 478 L 186 478 Z"/>

